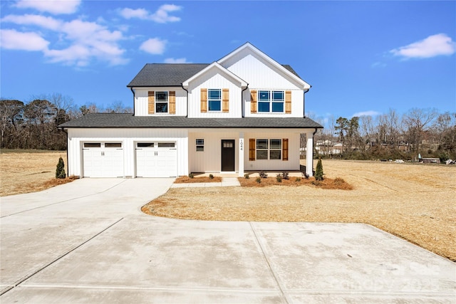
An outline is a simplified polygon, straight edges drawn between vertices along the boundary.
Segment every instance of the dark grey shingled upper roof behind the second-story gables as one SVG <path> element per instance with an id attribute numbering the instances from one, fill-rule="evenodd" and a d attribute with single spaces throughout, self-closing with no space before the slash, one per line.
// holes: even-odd
<path id="1" fill-rule="evenodd" d="M 209 63 L 147 63 L 127 87 L 180 87 L 207 65 Z M 290 65 L 282 66 L 299 77 Z"/>

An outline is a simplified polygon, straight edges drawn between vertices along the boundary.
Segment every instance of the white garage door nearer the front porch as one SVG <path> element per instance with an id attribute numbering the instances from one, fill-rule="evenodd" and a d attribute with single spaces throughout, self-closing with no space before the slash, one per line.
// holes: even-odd
<path id="1" fill-rule="evenodd" d="M 177 177 L 175 142 L 137 142 L 137 177 Z"/>

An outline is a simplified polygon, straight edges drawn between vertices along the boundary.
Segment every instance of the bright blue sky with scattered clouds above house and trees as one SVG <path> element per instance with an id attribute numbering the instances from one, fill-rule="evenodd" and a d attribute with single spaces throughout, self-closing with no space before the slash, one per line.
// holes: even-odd
<path id="1" fill-rule="evenodd" d="M 456 111 L 456 1 L 1 1 L 1 98 L 133 106 L 145 63 L 249 41 L 312 85 L 306 112 Z"/>

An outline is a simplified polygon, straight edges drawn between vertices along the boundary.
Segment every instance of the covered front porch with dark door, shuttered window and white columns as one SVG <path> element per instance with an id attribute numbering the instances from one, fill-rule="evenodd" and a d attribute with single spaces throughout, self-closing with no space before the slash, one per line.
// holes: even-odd
<path id="1" fill-rule="evenodd" d="M 301 174 L 300 140 L 306 134 L 305 172 L 313 176 L 314 129 L 189 130 L 189 173 L 250 172 Z"/>

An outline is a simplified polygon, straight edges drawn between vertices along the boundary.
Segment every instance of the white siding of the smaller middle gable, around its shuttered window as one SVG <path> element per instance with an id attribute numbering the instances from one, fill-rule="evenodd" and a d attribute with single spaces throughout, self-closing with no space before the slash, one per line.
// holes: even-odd
<path id="1" fill-rule="evenodd" d="M 201 89 L 228 89 L 229 90 L 229 111 L 201 111 Z M 212 68 L 195 78 L 189 83 L 188 88 L 188 117 L 211 117 L 211 118 L 234 118 L 242 117 L 242 88 L 237 81 L 219 69 Z"/>

